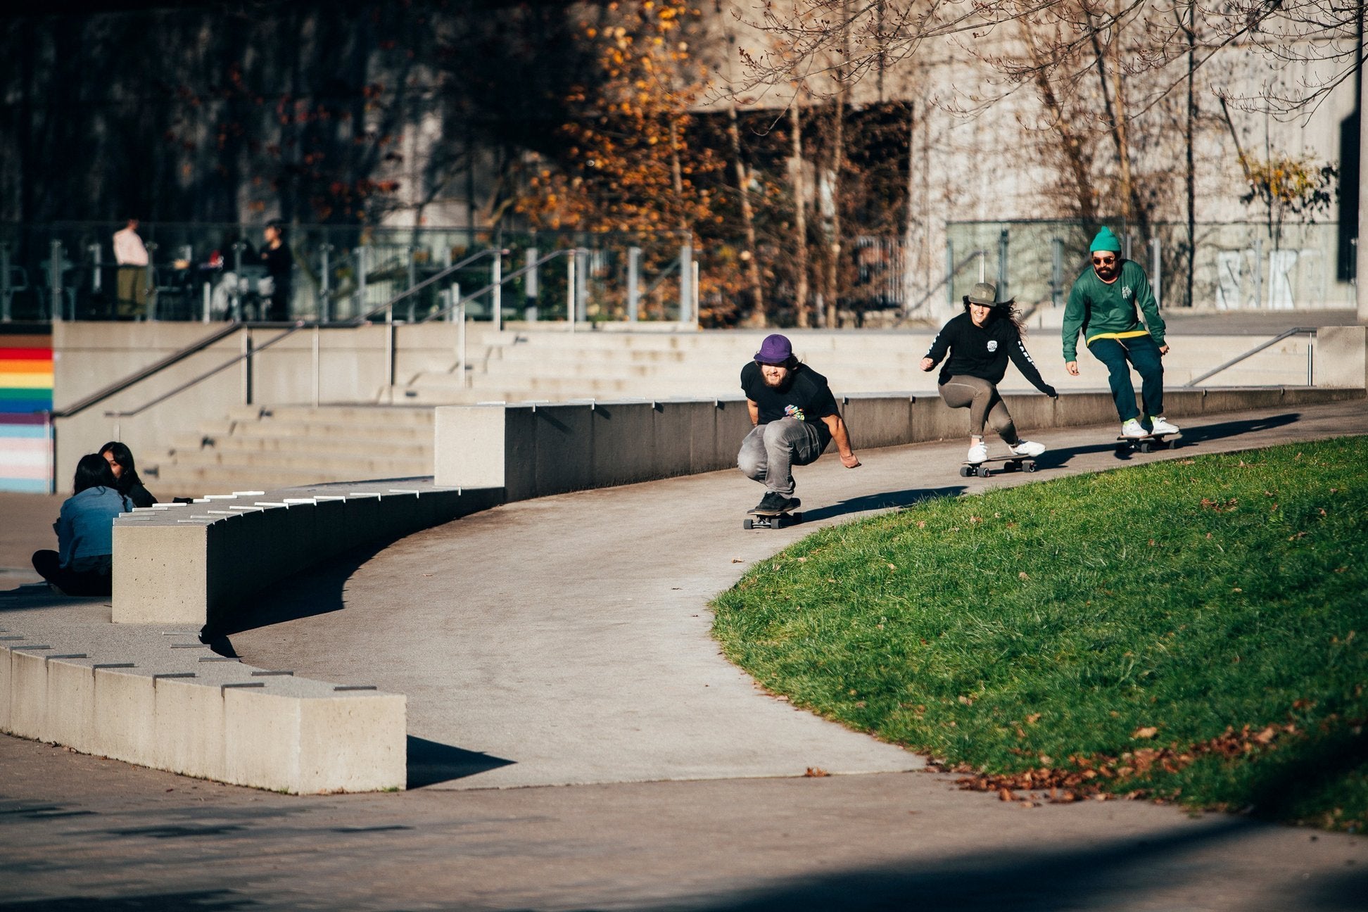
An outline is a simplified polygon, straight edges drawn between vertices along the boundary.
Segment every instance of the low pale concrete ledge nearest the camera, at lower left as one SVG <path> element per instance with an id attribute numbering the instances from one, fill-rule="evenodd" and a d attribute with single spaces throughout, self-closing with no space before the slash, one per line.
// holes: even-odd
<path id="1" fill-rule="evenodd" d="M 405 697 L 222 659 L 194 633 L 0 633 L 0 730 L 291 793 L 406 783 Z"/>

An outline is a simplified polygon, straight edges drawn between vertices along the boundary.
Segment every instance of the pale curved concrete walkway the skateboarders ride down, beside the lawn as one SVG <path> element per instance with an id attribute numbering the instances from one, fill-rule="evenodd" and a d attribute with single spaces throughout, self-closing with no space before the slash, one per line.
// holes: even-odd
<path id="1" fill-rule="evenodd" d="M 1041 472 L 988 480 L 959 477 L 959 440 L 866 451 L 856 470 L 824 458 L 798 470 L 810 522 L 782 531 L 741 529 L 761 488 L 736 472 L 513 503 L 304 577 L 231 643 L 253 665 L 408 695 L 412 785 L 915 768 L 758 689 L 710 639 L 707 600 L 817 525 L 1120 465 L 1114 433 L 1049 431 Z M 1133 461 L 1339 433 L 1368 433 L 1363 401 L 1208 417 L 1183 448 Z"/>

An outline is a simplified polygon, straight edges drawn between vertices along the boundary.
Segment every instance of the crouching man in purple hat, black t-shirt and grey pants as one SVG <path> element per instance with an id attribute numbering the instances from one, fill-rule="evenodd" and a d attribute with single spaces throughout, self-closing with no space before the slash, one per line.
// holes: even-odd
<path id="1" fill-rule="evenodd" d="M 785 336 L 765 336 L 754 360 L 741 368 L 741 390 L 755 428 L 741 442 L 736 465 L 765 485 L 751 513 L 796 509 L 792 466 L 815 462 L 832 440 L 841 465 L 859 466 L 826 377 L 799 362 Z"/>

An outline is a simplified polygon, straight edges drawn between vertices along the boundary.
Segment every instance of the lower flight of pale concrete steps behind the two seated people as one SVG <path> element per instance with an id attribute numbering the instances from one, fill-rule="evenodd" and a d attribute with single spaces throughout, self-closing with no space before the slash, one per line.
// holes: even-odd
<path id="1" fill-rule="evenodd" d="M 430 474 L 432 409 L 238 406 L 174 440 L 148 487 L 167 499 Z"/>

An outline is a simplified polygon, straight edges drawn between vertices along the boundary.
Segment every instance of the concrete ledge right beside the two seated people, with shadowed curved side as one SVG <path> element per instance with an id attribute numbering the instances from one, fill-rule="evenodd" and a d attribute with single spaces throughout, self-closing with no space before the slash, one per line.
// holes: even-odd
<path id="1" fill-rule="evenodd" d="M 427 479 L 211 495 L 114 524 L 115 623 L 202 626 L 280 580 L 502 500 Z"/>

